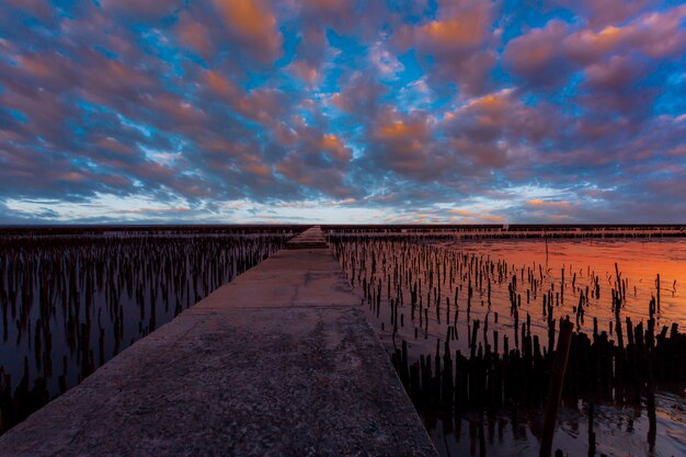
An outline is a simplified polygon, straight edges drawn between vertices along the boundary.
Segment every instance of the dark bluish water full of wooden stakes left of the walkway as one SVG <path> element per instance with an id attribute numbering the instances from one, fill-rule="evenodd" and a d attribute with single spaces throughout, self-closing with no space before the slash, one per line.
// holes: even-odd
<path id="1" fill-rule="evenodd" d="M 0 232 L 0 433 L 293 236 L 219 231 Z"/>

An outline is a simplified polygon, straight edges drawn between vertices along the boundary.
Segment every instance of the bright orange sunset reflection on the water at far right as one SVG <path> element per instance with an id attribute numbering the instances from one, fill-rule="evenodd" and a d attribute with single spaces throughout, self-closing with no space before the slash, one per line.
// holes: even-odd
<path id="1" fill-rule="evenodd" d="M 540 265 L 544 290 L 551 283 L 559 287 L 564 269 L 565 294 L 574 297 L 564 304 L 569 309 L 563 312 L 570 316 L 573 316 L 573 306 L 579 299 L 579 294 L 571 288 L 574 273 L 578 288 L 592 287 L 592 276 L 598 276 L 601 297 L 590 297 L 584 330 L 592 330 L 592 317 L 605 324 L 614 319 L 610 290 L 616 284 L 615 263 L 621 279 L 628 279 L 621 313 L 634 322 L 649 318 L 651 296 L 658 295 L 655 279 L 659 274 L 661 307 L 655 316 L 656 323 L 670 325 L 676 322 L 682 329 L 686 327 L 686 239 L 492 239 L 455 241 L 450 247 L 491 260 L 504 260 L 517 271 L 524 267 L 526 272 L 531 267 L 536 275 Z"/>

